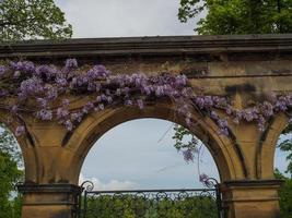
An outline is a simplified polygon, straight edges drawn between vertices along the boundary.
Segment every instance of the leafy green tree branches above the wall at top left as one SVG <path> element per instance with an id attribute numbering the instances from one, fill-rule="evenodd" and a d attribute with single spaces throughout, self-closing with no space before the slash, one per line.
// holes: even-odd
<path id="1" fill-rule="evenodd" d="M 0 1 L 0 40 L 59 39 L 72 35 L 54 0 Z"/>

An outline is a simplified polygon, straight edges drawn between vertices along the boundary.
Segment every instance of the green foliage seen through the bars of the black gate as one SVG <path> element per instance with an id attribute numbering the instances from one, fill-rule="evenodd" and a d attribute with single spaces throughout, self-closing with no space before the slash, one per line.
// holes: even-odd
<path id="1" fill-rule="evenodd" d="M 89 198 L 87 218 L 215 218 L 217 204 L 209 196 L 182 199 L 103 195 Z"/>

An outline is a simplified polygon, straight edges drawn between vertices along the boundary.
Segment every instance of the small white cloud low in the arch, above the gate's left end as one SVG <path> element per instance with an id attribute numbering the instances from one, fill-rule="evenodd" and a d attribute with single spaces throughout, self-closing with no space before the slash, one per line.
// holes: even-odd
<path id="1" fill-rule="evenodd" d="M 94 184 L 94 190 L 97 191 L 132 190 L 137 187 L 137 184 L 131 181 L 110 180 L 109 182 L 105 183 L 97 178 L 85 178 L 81 173 L 79 178 L 79 184 L 82 184 L 84 181 L 91 181 Z"/>

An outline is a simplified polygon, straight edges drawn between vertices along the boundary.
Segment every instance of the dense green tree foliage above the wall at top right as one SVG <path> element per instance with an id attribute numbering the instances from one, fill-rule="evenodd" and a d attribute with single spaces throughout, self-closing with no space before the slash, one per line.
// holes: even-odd
<path id="1" fill-rule="evenodd" d="M 201 12 L 200 35 L 292 33 L 291 0 L 180 0 L 180 22 Z"/>

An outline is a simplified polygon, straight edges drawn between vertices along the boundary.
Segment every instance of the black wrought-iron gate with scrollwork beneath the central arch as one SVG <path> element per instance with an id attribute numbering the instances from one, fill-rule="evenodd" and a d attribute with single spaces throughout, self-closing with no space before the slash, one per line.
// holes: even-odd
<path id="1" fill-rule="evenodd" d="M 93 191 L 82 184 L 78 218 L 223 218 L 221 193 L 214 179 L 208 189 Z"/>

